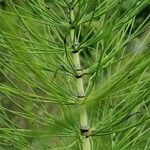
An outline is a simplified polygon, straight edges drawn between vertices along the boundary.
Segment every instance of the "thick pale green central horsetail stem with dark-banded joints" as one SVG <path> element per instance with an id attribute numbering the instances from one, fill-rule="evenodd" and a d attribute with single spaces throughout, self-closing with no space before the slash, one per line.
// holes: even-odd
<path id="1" fill-rule="evenodd" d="M 70 10 L 70 18 L 71 22 L 74 22 L 74 11 Z M 76 34 L 75 34 L 75 29 L 70 30 L 71 34 L 71 40 L 72 40 L 72 45 L 75 47 L 78 41 L 76 41 Z M 83 101 L 83 98 L 85 97 L 85 91 L 84 91 L 84 83 L 83 83 L 83 77 L 82 77 L 82 68 L 80 64 L 80 56 L 79 52 L 73 53 L 73 59 L 74 59 L 74 66 L 77 74 L 77 79 L 76 79 L 76 86 L 77 86 L 77 96 L 78 98 Z M 81 105 L 80 106 L 80 126 L 81 126 L 81 131 L 82 130 L 89 130 L 89 125 L 88 125 L 88 116 L 87 116 L 87 111 L 86 111 L 86 106 Z M 81 132 L 82 134 L 82 132 Z M 91 150 L 91 143 L 90 143 L 90 138 L 87 137 L 86 135 L 82 135 L 83 140 L 82 140 L 82 149 L 83 150 Z"/>

